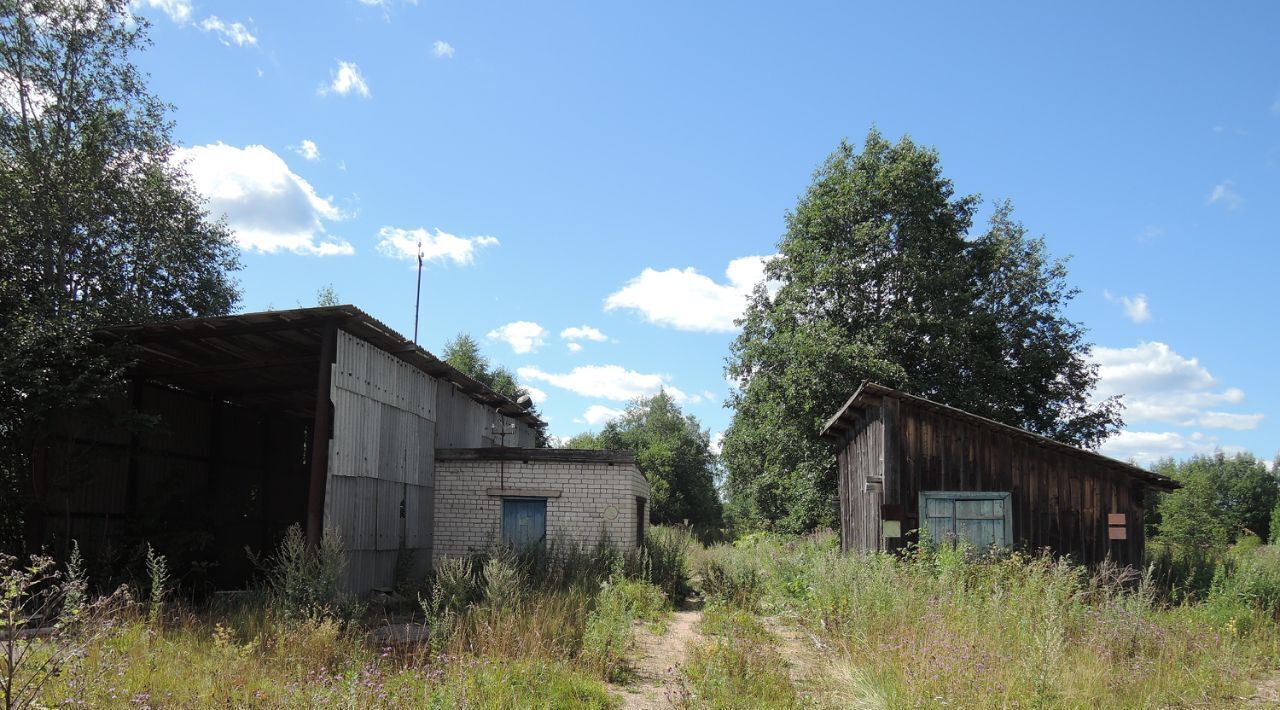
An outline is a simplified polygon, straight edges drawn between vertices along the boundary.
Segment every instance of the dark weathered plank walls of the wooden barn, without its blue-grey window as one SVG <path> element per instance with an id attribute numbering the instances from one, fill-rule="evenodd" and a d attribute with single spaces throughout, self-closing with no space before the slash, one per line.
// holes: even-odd
<path id="1" fill-rule="evenodd" d="M 1011 494 L 1019 546 L 1084 563 L 1142 563 L 1142 485 L 1036 439 L 884 397 L 864 409 L 838 461 L 846 550 L 895 550 L 913 539 L 882 537 L 882 504 L 901 507 L 906 532 L 920 525 L 922 491 L 1002 491 Z M 1108 513 L 1125 514 L 1126 540 L 1108 539 Z"/>

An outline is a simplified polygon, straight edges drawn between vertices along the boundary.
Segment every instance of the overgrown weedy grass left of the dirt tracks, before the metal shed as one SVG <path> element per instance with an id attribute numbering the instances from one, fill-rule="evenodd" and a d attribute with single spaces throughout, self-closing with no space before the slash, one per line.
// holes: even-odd
<path id="1" fill-rule="evenodd" d="M 340 567 L 289 550 L 266 565 L 283 572 L 261 594 L 201 608 L 174 599 L 163 617 L 142 604 L 114 613 L 40 702 L 611 707 L 604 682 L 627 677 L 634 622 L 669 613 L 658 587 L 627 577 L 646 569 L 627 555 L 499 553 L 442 563 L 417 614 L 431 638 L 384 646 L 369 636 L 384 619 L 333 604 Z"/>

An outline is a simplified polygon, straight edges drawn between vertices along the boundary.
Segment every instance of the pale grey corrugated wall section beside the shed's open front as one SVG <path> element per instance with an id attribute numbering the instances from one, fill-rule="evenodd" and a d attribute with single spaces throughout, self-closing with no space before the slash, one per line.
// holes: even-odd
<path id="1" fill-rule="evenodd" d="M 333 367 L 325 526 L 347 548 L 344 583 L 390 586 L 401 548 L 413 574 L 431 559 L 435 377 L 342 330 Z"/>

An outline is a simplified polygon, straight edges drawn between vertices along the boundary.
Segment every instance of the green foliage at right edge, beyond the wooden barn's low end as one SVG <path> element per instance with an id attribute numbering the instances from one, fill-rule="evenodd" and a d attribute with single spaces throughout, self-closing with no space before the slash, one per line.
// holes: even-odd
<path id="1" fill-rule="evenodd" d="M 1156 472 L 1183 484 L 1156 501 L 1161 540 L 1183 548 L 1221 548 L 1244 531 L 1271 539 L 1280 487 L 1253 454 L 1216 452 L 1183 462 L 1166 459 L 1156 464 Z"/>

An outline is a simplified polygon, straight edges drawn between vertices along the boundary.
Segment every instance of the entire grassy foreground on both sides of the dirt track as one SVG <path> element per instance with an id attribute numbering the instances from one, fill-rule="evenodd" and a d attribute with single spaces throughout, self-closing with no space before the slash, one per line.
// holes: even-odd
<path id="1" fill-rule="evenodd" d="M 708 597 L 675 698 L 687 707 L 1230 706 L 1280 667 L 1274 546 L 1134 576 L 1025 555 L 841 555 L 829 533 L 753 535 L 689 549 L 686 563 Z M 266 596 L 172 603 L 163 618 L 114 609 L 40 704 L 613 706 L 605 682 L 630 679 L 636 624 L 664 627 L 672 599 L 653 576 L 516 577 L 502 594 L 466 582 L 475 588 L 445 595 L 462 601 L 436 609 L 431 642 L 401 649 L 367 640 L 379 619 L 298 618 Z M 675 586 L 669 568 L 660 578 Z M 818 638 L 822 668 L 792 672 L 765 615 Z"/>

